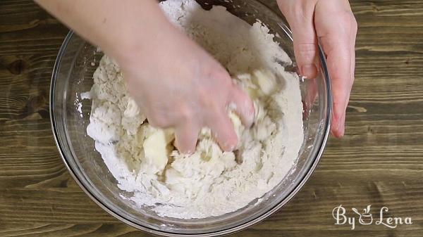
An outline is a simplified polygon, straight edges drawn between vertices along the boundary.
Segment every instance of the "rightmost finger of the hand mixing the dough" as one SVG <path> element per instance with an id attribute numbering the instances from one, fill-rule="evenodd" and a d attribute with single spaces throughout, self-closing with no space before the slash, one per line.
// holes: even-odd
<path id="1" fill-rule="evenodd" d="M 245 127 L 251 127 L 254 122 L 255 109 L 250 96 L 237 85 L 233 86 L 230 103 L 235 105 L 235 113 L 240 117 Z"/>

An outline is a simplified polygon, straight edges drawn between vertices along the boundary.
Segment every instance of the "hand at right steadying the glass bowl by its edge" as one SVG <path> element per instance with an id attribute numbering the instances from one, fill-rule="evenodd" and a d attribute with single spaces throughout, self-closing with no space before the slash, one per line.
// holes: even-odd
<path id="1" fill-rule="evenodd" d="M 357 22 L 347 0 L 277 0 L 293 31 L 300 73 L 317 76 L 318 39 L 331 76 L 333 114 L 331 133 L 345 132 L 345 110 L 355 70 Z"/>

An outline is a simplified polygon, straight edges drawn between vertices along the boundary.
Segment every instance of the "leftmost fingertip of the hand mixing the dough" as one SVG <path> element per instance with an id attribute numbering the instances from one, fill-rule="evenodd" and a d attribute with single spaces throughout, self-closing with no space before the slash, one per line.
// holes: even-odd
<path id="1" fill-rule="evenodd" d="M 192 154 L 197 146 L 200 129 L 192 122 L 185 122 L 175 129 L 175 146 L 180 153 Z"/>

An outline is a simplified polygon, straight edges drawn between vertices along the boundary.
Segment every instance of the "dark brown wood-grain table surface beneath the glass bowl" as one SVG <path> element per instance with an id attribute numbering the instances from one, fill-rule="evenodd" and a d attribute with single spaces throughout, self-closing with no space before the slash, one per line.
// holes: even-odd
<path id="1" fill-rule="evenodd" d="M 264 1 L 264 0 L 263 0 Z M 266 0 L 276 9 L 273 0 Z M 423 1 L 351 1 L 357 72 L 345 138 L 330 139 L 300 193 L 234 236 L 423 236 Z M 148 236 L 118 222 L 75 184 L 51 134 L 51 70 L 68 30 L 27 0 L 0 1 L 0 236 Z M 390 229 L 335 225 L 338 205 Z"/>

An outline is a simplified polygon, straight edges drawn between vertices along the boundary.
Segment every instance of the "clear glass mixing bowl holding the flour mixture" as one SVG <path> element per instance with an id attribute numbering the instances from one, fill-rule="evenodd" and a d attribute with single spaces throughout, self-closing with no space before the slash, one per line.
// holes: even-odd
<path id="1" fill-rule="evenodd" d="M 204 8 L 225 6 L 233 15 L 247 23 L 259 19 L 276 34 L 276 41 L 293 60 L 284 65 L 295 70 L 293 39 L 290 30 L 276 13 L 258 1 L 221 0 L 198 1 Z M 69 32 L 56 59 L 51 79 L 51 126 L 63 162 L 73 178 L 95 203 L 122 222 L 137 229 L 162 236 L 217 236 L 240 231 L 262 221 L 285 205 L 298 193 L 312 174 L 323 153 L 331 123 L 331 88 L 324 53 L 319 49 L 320 70 L 316 79 L 301 79 L 304 104 L 303 129 L 305 138 L 296 167 L 280 184 L 262 197 L 235 212 L 204 219 L 174 219 L 159 217 L 149 208 L 137 207 L 125 197 L 101 156 L 94 149 L 94 141 L 87 136 L 91 103 L 82 100 L 80 93 L 90 91 L 92 74 L 98 67 L 102 53 L 73 32 Z"/>

